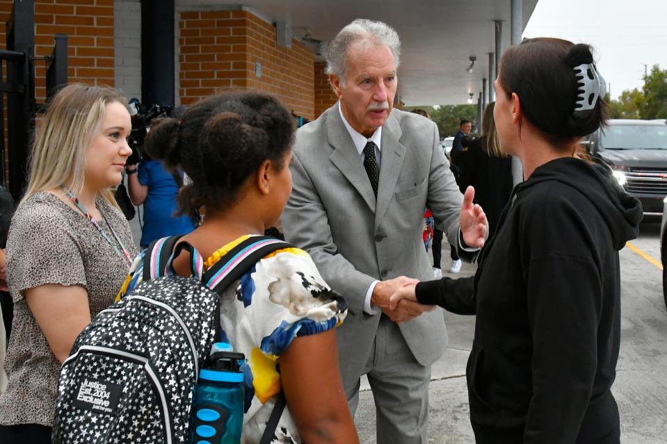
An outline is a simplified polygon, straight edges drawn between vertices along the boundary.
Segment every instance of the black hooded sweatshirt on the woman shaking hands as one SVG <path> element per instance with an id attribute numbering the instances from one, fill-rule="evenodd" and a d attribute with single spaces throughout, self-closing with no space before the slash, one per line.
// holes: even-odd
<path id="1" fill-rule="evenodd" d="M 478 443 L 618 442 L 618 250 L 641 217 L 610 171 L 559 158 L 515 187 L 474 277 L 417 285 L 419 302 L 477 315 Z"/>

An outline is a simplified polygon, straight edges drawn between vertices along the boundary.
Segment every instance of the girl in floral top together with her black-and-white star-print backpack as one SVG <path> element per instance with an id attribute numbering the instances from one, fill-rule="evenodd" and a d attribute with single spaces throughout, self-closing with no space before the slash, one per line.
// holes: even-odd
<path id="1" fill-rule="evenodd" d="M 172 293 L 172 296 L 161 297 L 159 304 L 175 307 L 179 318 L 189 326 L 191 344 L 199 354 L 208 354 L 212 342 L 225 342 L 232 345 L 234 352 L 245 355 L 243 384 L 246 402 L 241 443 L 358 443 L 341 384 L 334 330 L 345 318 L 346 302 L 323 281 L 310 256 L 280 242 L 280 249 L 264 253 L 257 261 L 252 261 L 248 270 L 230 285 L 220 284 L 218 279 L 227 272 L 227 264 L 232 267 L 236 258 L 242 257 L 255 240 L 255 244 L 263 242 L 267 245 L 279 242 L 262 235 L 266 228 L 275 225 L 291 192 L 289 163 L 293 138 L 294 123 L 289 112 L 275 97 L 258 92 L 211 97 L 188 108 L 178 120 L 165 119 L 155 124 L 145 142 L 147 152 L 152 158 L 163 160 L 166 167 L 182 167 L 189 178 L 188 185 L 180 190 L 177 198 L 180 211 L 189 214 L 204 207 L 206 215 L 202 225 L 191 233 L 178 240 L 158 240 L 149 247 L 146 257 L 137 258 L 133 272 L 122 287 L 120 302 L 109 311 L 118 313 L 123 307 L 138 304 L 139 299 L 143 302 L 156 299 L 158 290 L 165 292 L 170 288 L 188 286 L 180 287 L 183 290 Z M 161 257 L 169 256 L 168 261 L 160 261 Z M 223 262 L 224 267 L 220 266 Z M 168 276 L 163 277 L 165 274 Z M 220 297 L 211 302 L 209 293 L 193 287 L 193 276 L 206 283 L 208 288 L 220 290 Z M 183 280 L 186 277 L 190 279 Z M 186 294 L 188 291 L 196 294 Z M 186 298 L 194 305 L 189 309 L 179 308 Z M 191 322 L 198 316 L 193 313 L 196 308 L 204 313 L 219 313 L 212 317 L 210 329 L 202 326 L 202 322 Z M 108 322 L 103 319 L 104 315 L 99 322 L 97 319 L 93 321 L 88 336 L 122 336 L 120 330 L 109 334 L 106 326 L 113 322 L 111 318 L 105 318 Z M 100 334 L 93 331 L 96 322 Z M 128 325 L 124 334 L 132 336 L 130 328 L 132 326 Z M 213 335 L 215 338 L 210 339 Z M 86 336 L 86 331 L 82 336 Z M 159 347 L 186 347 L 185 342 L 175 334 L 174 339 Z M 96 346 L 90 342 L 88 345 L 77 343 L 74 354 L 85 347 L 92 350 Z M 138 348 L 141 347 L 143 345 Z M 147 354 L 152 356 L 152 353 Z M 179 384 L 179 380 L 184 379 L 183 374 L 174 368 L 181 365 L 181 361 L 189 363 L 190 359 L 187 356 L 186 359 L 160 356 L 163 357 L 153 360 L 154 364 L 142 361 L 141 365 L 154 365 L 156 379 L 166 375 L 166 409 L 175 403 L 183 406 L 180 411 L 172 411 L 166 416 L 172 420 L 176 431 L 164 442 L 172 439 L 178 442 L 187 427 L 187 415 L 182 413 L 187 413 L 193 388 L 188 386 L 186 400 L 170 395 L 170 379 Z M 99 362 L 106 362 L 105 357 L 100 359 Z M 140 357 L 137 359 L 141 360 Z M 150 356 L 148 361 L 151 361 Z M 175 362 L 170 366 L 163 361 Z M 197 368 L 198 364 L 194 362 L 193 365 Z M 193 373 L 193 365 L 186 366 L 190 369 L 187 370 L 188 377 Z M 84 423 L 88 427 L 88 418 L 97 414 L 86 413 L 90 416 L 77 423 L 79 411 L 67 410 L 70 397 L 81 393 L 81 383 L 70 384 L 74 370 L 67 370 L 67 367 L 66 362 L 61 374 L 62 397 L 59 397 L 63 414 L 57 413 L 56 419 L 60 427 L 58 433 L 62 429 L 65 434 L 73 422 L 77 425 L 74 427 Z M 83 370 L 79 372 L 85 373 Z M 170 378 L 170 372 L 176 377 Z M 86 386 L 90 384 L 88 382 Z M 97 382 L 92 384 L 97 384 L 93 388 L 99 387 Z M 110 393 L 115 390 L 114 384 L 106 386 Z M 280 404 L 283 396 L 287 406 L 280 411 L 275 406 Z M 123 402 L 122 394 L 119 399 L 118 405 Z M 115 398 L 113 400 L 109 409 L 115 409 L 117 405 Z M 120 414 L 126 413 L 132 416 L 127 411 Z M 275 417 L 273 420 L 272 416 Z M 269 431 L 269 439 L 264 441 L 268 422 L 274 422 L 271 425 L 273 431 Z M 141 442 L 160 442 L 158 438 L 151 438 L 152 431 L 143 428 L 145 434 L 137 436 Z M 88 429 L 102 433 L 106 430 Z M 130 427 L 127 433 L 135 432 Z M 66 441 L 62 438 L 54 442 Z"/>

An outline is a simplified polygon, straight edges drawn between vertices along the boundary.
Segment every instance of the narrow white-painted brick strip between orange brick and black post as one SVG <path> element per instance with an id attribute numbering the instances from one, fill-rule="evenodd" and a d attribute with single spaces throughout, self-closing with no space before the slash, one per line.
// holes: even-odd
<path id="1" fill-rule="evenodd" d="M 141 99 L 141 3 L 113 3 L 113 85 L 128 99 Z"/>

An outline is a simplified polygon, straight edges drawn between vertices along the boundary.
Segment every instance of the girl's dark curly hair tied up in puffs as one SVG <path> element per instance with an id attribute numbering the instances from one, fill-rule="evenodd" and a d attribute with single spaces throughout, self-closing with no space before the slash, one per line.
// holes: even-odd
<path id="1" fill-rule="evenodd" d="M 294 140 L 294 120 L 280 101 L 261 92 L 227 92 L 200 101 L 180 119 L 163 119 L 145 149 L 166 167 L 182 167 L 191 183 L 179 192 L 180 213 L 236 202 L 259 165 L 280 170 Z"/>

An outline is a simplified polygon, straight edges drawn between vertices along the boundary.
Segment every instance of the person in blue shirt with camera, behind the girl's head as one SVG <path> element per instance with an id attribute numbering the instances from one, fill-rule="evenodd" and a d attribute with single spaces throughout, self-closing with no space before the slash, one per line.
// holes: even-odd
<path id="1" fill-rule="evenodd" d="M 156 239 L 187 234 L 197 227 L 195 214 L 198 213 L 175 215 L 176 196 L 183 186 L 182 171 L 168 171 L 161 162 L 144 154 L 138 166 L 130 163 L 126 165 L 125 172 L 132 203 L 136 206 L 143 204 L 143 226 L 139 241 L 141 248 Z"/>

